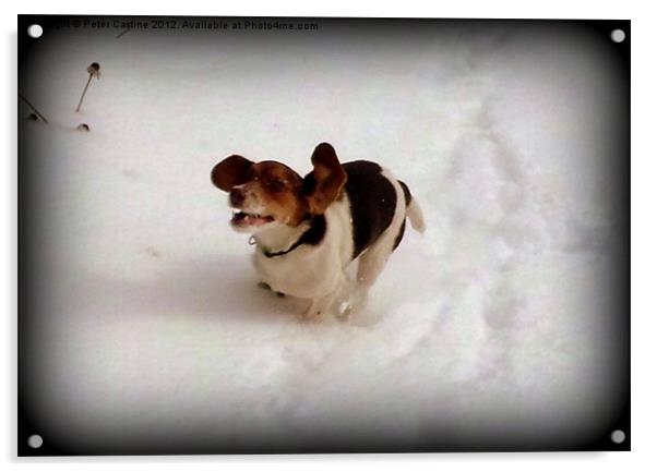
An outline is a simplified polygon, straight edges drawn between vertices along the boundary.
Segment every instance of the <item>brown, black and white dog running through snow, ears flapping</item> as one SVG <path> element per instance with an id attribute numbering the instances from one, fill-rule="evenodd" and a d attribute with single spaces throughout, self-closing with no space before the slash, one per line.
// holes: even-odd
<path id="1" fill-rule="evenodd" d="M 212 182 L 228 192 L 232 228 L 252 234 L 265 287 L 309 300 L 306 318 L 345 316 L 365 303 L 402 242 L 406 218 L 419 232 L 425 222 L 408 186 L 378 164 L 341 165 L 327 143 L 316 146 L 311 161 L 312 171 L 301 178 L 284 164 L 234 155 L 213 168 Z"/>

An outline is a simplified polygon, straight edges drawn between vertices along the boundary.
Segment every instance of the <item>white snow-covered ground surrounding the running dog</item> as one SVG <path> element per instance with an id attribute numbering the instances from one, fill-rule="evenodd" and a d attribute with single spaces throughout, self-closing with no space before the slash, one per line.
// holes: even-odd
<path id="1" fill-rule="evenodd" d="M 602 421 L 625 264 L 607 110 L 623 97 L 596 46 L 333 28 L 46 32 L 23 90 L 51 121 L 23 141 L 39 293 L 25 359 L 53 434 L 538 447 Z M 239 153 L 304 173 L 322 141 L 391 168 L 428 230 L 407 231 L 354 323 L 309 326 L 255 287 L 210 170 Z"/>

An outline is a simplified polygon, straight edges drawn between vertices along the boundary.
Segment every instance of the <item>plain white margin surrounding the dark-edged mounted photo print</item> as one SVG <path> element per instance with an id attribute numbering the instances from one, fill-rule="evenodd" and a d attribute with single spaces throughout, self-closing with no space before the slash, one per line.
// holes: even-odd
<path id="1" fill-rule="evenodd" d="M 16 2 L 17 3 L 17 2 Z M 453 1 L 357 3 L 354 0 L 332 0 L 311 3 L 308 1 L 228 2 L 210 4 L 206 1 L 144 4 L 130 0 L 111 2 L 68 1 L 46 2 L 33 0 L 21 4 L 2 5 L 0 22 L 3 26 L 1 74 L 5 104 L 2 113 L 2 191 L 0 195 L 0 231 L 4 270 L 0 278 L 0 296 L 4 313 L 3 337 L 0 339 L 3 360 L 0 378 L 3 387 L 3 414 L 0 427 L 0 458 L 10 462 L 9 468 L 33 470 L 46 465 L 51 470 L 94 469 L 115 470 L 171 470 L 183 464 L 186 469 L 212 468 L 217 470 L 240 469 L 271 471 L 306 470 L 431 470 L 440 467 L 458 470 L 550 471 L 556 468 L 570 470 L 655 470 L 654 453 L 657 399 L 655 380 L 655 337 L 657 336 L 657 102 L 655 88 L 655 17 L 647 1 L 595 1 L 550 0 L 527 1 Z M 163 458 L 82 458 L 26 460 L 15 457 L 15 225 L 16 225 L 16 14 L 177 14 L 177 15 L 299 15 L 299 16 L 437 16 L 437 17 L 535 17 L 535 19 L 630 19 L 632 20 L 632 448 L 630 453 L 473 453 L 473 455 L 375 455 L 375 456 L 252 456 L 252 457 L 163 457 Z M 189 465 L 188 465 L 189 464 Z M 649 465 L 652 464 L 652 465 Z"/>

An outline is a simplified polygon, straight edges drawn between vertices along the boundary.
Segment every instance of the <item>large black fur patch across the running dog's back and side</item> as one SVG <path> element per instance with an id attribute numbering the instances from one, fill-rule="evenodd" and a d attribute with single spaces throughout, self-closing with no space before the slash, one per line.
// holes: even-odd
<path id="1" fill-rule="evenodd" d="M 345 192 L 351 204 L 354 255 L 356 258 L 390 226 L 397 206 L 395 187 L 381 174 L 381 166 L 367 160 L 343 165 L 347 172 Z"/>

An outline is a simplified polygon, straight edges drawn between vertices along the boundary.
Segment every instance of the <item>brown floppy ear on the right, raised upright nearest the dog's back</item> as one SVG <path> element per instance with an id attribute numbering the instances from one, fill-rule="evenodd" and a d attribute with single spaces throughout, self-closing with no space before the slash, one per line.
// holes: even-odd
<path id="1" fill-rule="evenodd" d="M 347 173 L 329 143 L 314 148 L 311 161 L 313 169 L 303 179 L 303 194 L 310 213 L 321 215 L 339 196 L 347 181 Z"/>

